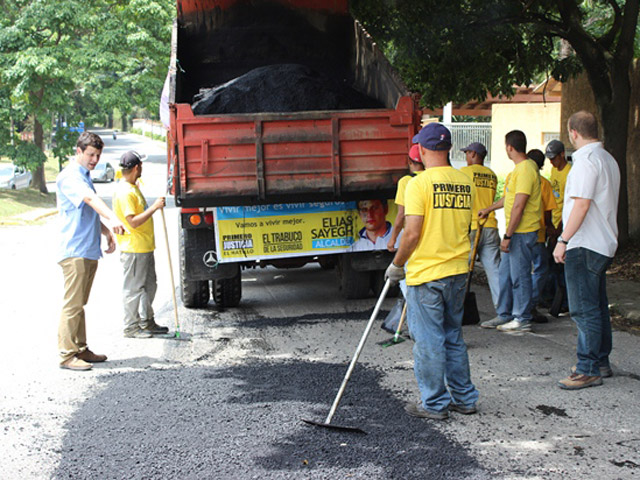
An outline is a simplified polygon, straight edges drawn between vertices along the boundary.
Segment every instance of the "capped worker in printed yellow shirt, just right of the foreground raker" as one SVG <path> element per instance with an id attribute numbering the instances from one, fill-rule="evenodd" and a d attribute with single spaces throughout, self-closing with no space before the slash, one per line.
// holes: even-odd
<path id="1" fill-rule="evenodd" d="M 473 142 L 460 149 L 465 153 L 467 166 L 460 169 L 475 184 L 475 197 L 473 199 L 473 212 L 471 215 L 471 232 L 469 240 L 473 245 L 478 232 L 478 212 L 492 205 L 496 199 L 498 177 L 493 170 L 484 165 L 487 156 L 486 147 L 479 142 Z M 478 241 L 478 258 L 487 274 L 489 289 L 493 306 L 498 308 L 498 296 L 500 294 L 500 233 L 495 213 L 491 212 L 487 218 Z"/>

